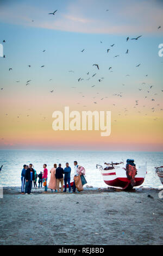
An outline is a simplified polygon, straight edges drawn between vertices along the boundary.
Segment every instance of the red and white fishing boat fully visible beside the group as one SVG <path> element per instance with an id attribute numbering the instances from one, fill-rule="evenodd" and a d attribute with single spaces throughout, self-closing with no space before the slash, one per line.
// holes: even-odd
<path id="1" fill-rule="evenodd" d="M 100 164 L 96 164 L 96 168 L 101 171 L 105 184 L 122 188 L 123 190 L 131 190 L 133 187 L 140 186 L 147 174 L 147 162 L 145 165 L 138 166 L 137 168 L 135 164 L 134 166 L 131 164 L 126 165 L 124 162 L 104 164 L 106 166 L 104 169 Z"/>

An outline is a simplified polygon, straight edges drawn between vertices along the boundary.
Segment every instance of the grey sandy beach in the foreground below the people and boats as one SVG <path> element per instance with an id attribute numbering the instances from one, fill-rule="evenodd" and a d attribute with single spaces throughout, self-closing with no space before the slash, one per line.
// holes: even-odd
<path id="1" fill-rule="evenodd" d="M 162 245 L 159 190 L 85 188 L 22 195 L 3 188 L 0 245 Z M 152 197 L 148 197 L 148 195 Z"/>

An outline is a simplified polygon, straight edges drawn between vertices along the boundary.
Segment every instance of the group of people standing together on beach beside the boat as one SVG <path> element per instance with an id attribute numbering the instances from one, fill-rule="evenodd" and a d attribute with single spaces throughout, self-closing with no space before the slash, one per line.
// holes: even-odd
<path id="1" fill-rule="evenodd" d="M 66 167 L 63 169 L 61 167 L 61 163 L 59 163 L 58 167 L 57 164 L 54 163 L 54 167 L 50 170 L 51 177 L 49 180 L 49 184 L 47 186 L 47 179 L 48 179 L 48 170 L 47 164 L 43 164 L 43 172 L 40 174 L 36 173 L 36 170 L 33 167 L 33 164 L 30 163 L 29 166 L 24 164 L 22 173 L 21 173 L 21 181 L 22 187 L 21 192 L 22 194 L 30 194 L 32 190 L 32 184 L 34 187 L 37 188 L 37 178 L 39 178 L 39 187 L 42 183 L 45 187 L 45 191 L 43 193 L 47 193 L 48 188 L 51 189 L 51 192 L 59 192 L 59 186 L 61 185 L 61 192 L 66 192 L 67 184 L 68 184 L 68 192 L 72 193 L 71 191 L 71 167 L 69 166 L 68 162 L 66 163 Z M 73 192 L 76 192 L 76 182 L 75 177 L 80 176 L 82 186 L 85 185 L 87 182 L 85 180 L 85 169 L 82 166 L 78 165 L 77 161 L 74 161 L 74 180 L 73 180 Z M 64 186 L 65 185 L 65 186 Z M 25 189 L 24 189 L 25 188 Z"/>

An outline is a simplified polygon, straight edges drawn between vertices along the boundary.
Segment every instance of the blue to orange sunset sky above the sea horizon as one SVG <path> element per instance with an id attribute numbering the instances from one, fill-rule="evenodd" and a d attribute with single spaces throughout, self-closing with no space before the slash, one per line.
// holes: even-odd
<path id="1" fill-rule="evenodd" d="M 0 149 L 162 151 L 162 15 L 154 0 L 1 0 Z M 54 131 L 65 106 L 111 111 L 110 136 Z"/>

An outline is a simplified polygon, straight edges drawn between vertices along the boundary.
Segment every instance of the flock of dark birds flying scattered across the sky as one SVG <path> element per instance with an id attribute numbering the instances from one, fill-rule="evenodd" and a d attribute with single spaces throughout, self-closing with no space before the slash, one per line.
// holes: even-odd
<path id="1" fill-rule="evenodd" d="M 58 10 L 55 10 L 53 13 L 49 13 L 48 15 L 55 15 L 57 11 L 58 11 Z M 109 11 L 109 10 L 107 9 L 106 11 Z M 32 22 L 34 22 L 34 20 L 32 20 Z M 158 27 L 158 29 L 160 29 L 160 28 L 161 28 L 161 26 Z M 127 36 L 126 41 L 128 41 L 129 39 L 130 39 L 130 40 L 136 40 L 136 41 L 137 41 L 138 39 L 141 38 L 141 36 L 142 36 L 142 35 L 139 35 L 139 36 L 137 36 L 137 37 L 135 37 L 135 38 L 131 38 L 131 39 L 129 38 L 129 36 Z M 5 42 L 6 42 L 6 40 L 3 40 L 3 43 L 5 43 Z M 102 44 L 102 41 L 101 41 L 101 44 Z M 110 47 L 114 47 L 114 46 L 115 46 L 115 44 L 110 45 Z M 110 48 L 107 48 L 107 49 L 106 49 L 106 53 L 109 53 L 110 50 L 111 50 Z M 43 50 L 42 52 L 45 52 L 45 51 L 46 51 L 46 50 Z M 85 48 L 83 48 L 83 50 L 80 51 L 80 52 L 83 53 L 84 51 L 85 51 Z M 129 49 L 127 49 L 127 51 L 126 51 L 126 54 L 128 54 L 128 53 L 129 53 Z M 3 57 L 6 58 L 5 55 L 4 55 Z M 119 55 L 115 55 L 115 56 L 114 56 L 114 58 L 117 58 L 117 57 L 119 57 Z M 141 63 L 137 64 L 137 65 L 136 65 L 136 68 L 139 68 L 140 65 L 141 65 Z M 100 66 L 99 66 L 99 64 L 97 64 L 97 63 L 92 64 L 92 66 L 95 66 L 95 68 L 96 68 L 97 71 L 100 69 Z M 44 68 L 44 67 L 45 67 L 45 65 L 40 66 L 40 68 Z M 28 68 L 31 68 L 31 65 L 28 65 Z M 12 71 L 12 68 L 9 68 L 9 71 Z M 112 66 L 109 67 L 109 71 L 110 71 L 110 72 L 113 72 L 113 71 L 112 71 Z M 68 72 L 74 73 L 73 70 L 69 70 Z M 86 74 L 87 74 L 87 75 L 90 75 L 90 71 L 87 71 Z M 93 74 L 93 75 L 92 75 L 92 78 L 95 77 L 96 75 L 97 75 L 97 73 Z M 126 76 L 130 76 L 130 75 L 127 74 Z M 148 76 L 148 75 L 145 75 L 145 77 L 147 77 L 147 76 Z M 90 79 L 91 79 L 91 77 L 87 78 L 86 80 L 89 81 Z M 102 82 L 103 79 L 104 79 L 104 77 L 101 77 L 101 78 L 98 78 L 97 81 L 98 81 L 98 82 Z M 82 77 L 79 77 L 79 78 L 78 78 L 78 82 L 82 82 L 83 80 L 84 80 L 84 78 L 82 78 Z M 29 86 L 31 81 L 32 81 L 32 80 L 28 80 L 28 81 L 26 82 L 26 86 Z M 49 81 L 52 81 L 52 78 L 49 79 Z M 18 80 L 18 81 L 16 81 L 16 82 L 19 83 L 20 80 Z M 146 84 L 145 82 L 142 82 L 142 85 L 145 85 L 145 84 Z M 125 84 L 122 84 L 122 86 L 125 86 Z M 95 84 L 91 86 L 91 88 L 93 88 L 93 87 L 95 87 Z M 72 88 L 76 88 L 76 87 L 72 87 Z M 153 86 L 149 86 L 149 89 L 147 90 L 147 93 L 150 93 L 150 91 L 151 91 L 152 88 L 153 88 Z M 1 90 L 3 90 L 3 88 L 1 88 Z M 141 91 L 142 89 L 139 88 L 139 90 Z M 49 92 L 50 92 L 50 93 L 53 93 L 53 92 L 54 92 L 54 89 L 50 90 Z M 161 92 L 163 92 L 163 90 L 161 90 Z M 79 92 L 79 93 L 82 94 L 82 92 Z M 99 94 L 99 93 L 97 93 L 97 94 Z M 112 96 L 122 97 L 122 94 L 123 94 L 123 92 L 120 92 L 120 93 L 115 93 L 115 94 L 113 94 Z M 157 95 L 157 94 L 155 93 L 154 95 Z M 85 96 L 83 95 L 83 97 L 85 97 Z M 93 96 L 93 99 L 95 99 L 95 98 L 96 98 L 96 96 Z M 103 97 L 101 97 L 101 100 L 103 100 L 103 99 L 105 99 L 105 98 L 108 98 L 108 97 L 107 97 L 107 96 L 103 96 Z M 145 96 L 145 99 L 146 99 L 146 98 L 147 98 L 147 96 Z M 151 101 L 155 101 L 155 99 L 152 98 Z M 97 104 L 97 101 L 93 101 L 93 103 Z M 80 103 L 77 102 L 77 104 L 80 104 Z M 113 105 L 115 106 L 115 103 L 114 103 Z M 138 105 L 139 105 L 139 100 L 135 100 L 134 108 L 136 108 L 136 106 L 138 106 Z M 158 104 L 158 106 L 159 106 L 159 104 Z M 86 105 L 83 105 L 83 107 L 86 107 Z M 145 105 L 144 105 L 143 107 L 145 107 Z M 29 110 L 30 110 L 30 109 L 29 109 Z M 127 108 L 124 108 L 124 113 L 125 113 L 125 115 L 127 115 L 126 112 L 128 112 L 128 111 L 129 111 L 129 110 L 128 110 Z M 152 112 L 154 112 L 154 111 L 155 111 L 155 107 L 152 107 Z M 160 111 L 162 111 L 162 108 L 160 109 Z M 138 112 L 140 113 L 140 111 L 138 111 Z M 8 114 L 6 114 L 6 115 L 8 115 Z M 119 113 L 118 115 L 121 115 L 121 113 Z M 145 114 L 145 115 L 147 115 L 147 114 Z M 20 116 L 17 116 L 17 118 L 19 118 L 19 117 L 20 117 Z M 27 115 L 27 117 L 29 117 L 29 115 Z M 44 119 L 46 119 L 46 118 L 44 118 Z M 154 120 L 157 120 L 157 118 L 155 118 Z M 117 120 L 115 120 L 115 121 L 117 121 Z"/>

